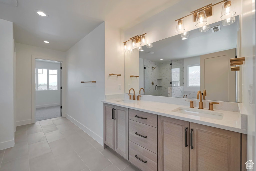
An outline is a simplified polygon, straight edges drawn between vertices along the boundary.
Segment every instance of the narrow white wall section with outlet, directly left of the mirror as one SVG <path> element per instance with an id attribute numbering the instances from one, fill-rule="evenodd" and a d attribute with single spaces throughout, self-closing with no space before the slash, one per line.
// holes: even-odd
<path id="1" fill-rule="evenodd" d="M 105 94 L 124 93 L 124 53 L 122 31 L 105 23 Z M 121 74 L 110 76 L 109 74 Z M 121 90 L 118 86 L 121 84 Z"/>

